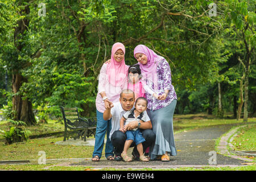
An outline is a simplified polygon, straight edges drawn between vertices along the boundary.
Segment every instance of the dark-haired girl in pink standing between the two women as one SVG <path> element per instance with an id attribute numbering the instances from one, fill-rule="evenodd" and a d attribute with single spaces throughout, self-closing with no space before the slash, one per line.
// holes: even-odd
<path id="1" fill-rule="evenodd" d="M 141 69 L 138 64 L 131 65 L 128 69 L 127 89 L 133 90 L 135 100 L 138 97 L 145 97 L 145 90 L 141 82 Z"/>

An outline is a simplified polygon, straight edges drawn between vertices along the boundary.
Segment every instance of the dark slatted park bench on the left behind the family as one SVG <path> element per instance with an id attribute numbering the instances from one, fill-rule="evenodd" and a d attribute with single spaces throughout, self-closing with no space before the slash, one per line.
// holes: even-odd
<path id="1" fill-rule="evenodd" d="M 92 135 L 95 137 L 97 125 L 96 117 L 81 118 L 77 107 L 68 108 L 61 106 L 60 108 L 65 125 L 63 141 L 69 137 L 72 137 L 75 140 L 81 137 L 81 139 L 84 139 L 86 142 L 86 137 L 89 138 Z"/>

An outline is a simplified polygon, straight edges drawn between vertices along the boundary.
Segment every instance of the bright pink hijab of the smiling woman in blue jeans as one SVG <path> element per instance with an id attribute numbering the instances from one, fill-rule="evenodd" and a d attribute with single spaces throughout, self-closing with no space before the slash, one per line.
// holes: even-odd
<path id="1" fill-rule="evenodd" d="M 128 66 L 125 64 L 125 58 L 119 63 L 115 61 L 114 54 L 118 49 L 121 49 L 125 54 L 125 46 L 122 43 L 114 43 L 111 51 L 111 63 L 107 65 L 109 82 L 113 86 L 121 86 L 124 79 L 127 77 Z"/>

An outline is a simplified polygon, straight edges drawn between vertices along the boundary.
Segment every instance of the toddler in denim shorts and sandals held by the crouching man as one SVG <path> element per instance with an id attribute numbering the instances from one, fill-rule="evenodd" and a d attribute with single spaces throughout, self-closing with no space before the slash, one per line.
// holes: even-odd
<path id="1" fill-rule="evenodd" d="M 125 125 L 127 125 L 129 122 L 132 122 L 132 121 L 138 121 L 138 122 L 150 121 L 150 118 L 147 115 L 146 109 L 147 109 L 146 98 L 139 97 L 135 101 L 134 109 L 127 111 L 125 114 L 123 114 L 123 117 L 120 119 L 119 130 L 122 131 L 123 133 L 126 133 L 126 142 L 125 142 L 125 146 L 123 147 L 123 152 L 121 154 L 125 162 L 131 162 L 132 160 L 132 158 L 127 155 L 127 150 L 129 149 L 129 147 L 133 142 L 135 142 L 137 146 L 137 150 L 139 152 L 139 159 L 142 162 L 148 162 L 148 159 L 143 155 L 142 142 L 144 142 L 145 139 L 142 137 L 141 130 L 137 128 L 134 130 L 126 131 L 126 127 L 125 127 Z"/>

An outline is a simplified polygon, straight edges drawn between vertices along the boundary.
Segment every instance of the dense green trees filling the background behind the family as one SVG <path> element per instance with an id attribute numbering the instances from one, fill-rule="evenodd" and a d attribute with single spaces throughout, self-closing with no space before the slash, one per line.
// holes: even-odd
<path id="1" fill-rule="evenodd" d="M 122 42 L 127 65 L 137 62 L 138 44 L 166 58 L 176 113 L 217 113 L 222 102 L 235 115 L 242 80 L 245 112 L 254 114 L 255 6 L 252 0 L 1 0 L 0 105 L 6 65 L 14 119 L 35 123 L 31 111 L 38 107 L 56 116 L 59 106 L 95 115 L 100 68 Z"/>

